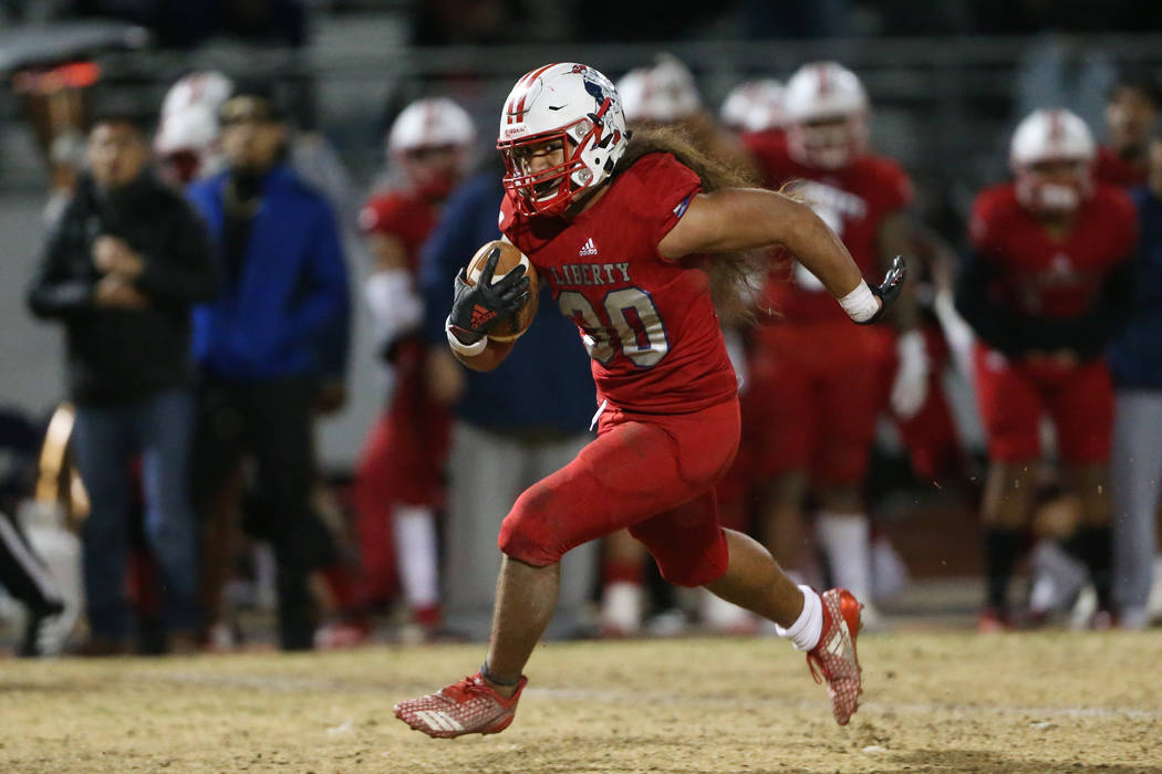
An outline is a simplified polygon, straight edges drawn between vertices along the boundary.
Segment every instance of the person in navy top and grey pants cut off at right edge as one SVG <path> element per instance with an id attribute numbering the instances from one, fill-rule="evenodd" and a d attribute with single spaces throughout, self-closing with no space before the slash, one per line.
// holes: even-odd
<path id="1" fill-rule="evenodd" d="M 1148 178 L 1131 191 L 1138 207 L 1134 298 L 1106 353 L 1117 389 L 1113 426 L 1113 595 L 1121 625 L 1149 623 L 1146 603 L 1157 555 L 1162 493 L 1162 135 L 1149 144 Z"/>

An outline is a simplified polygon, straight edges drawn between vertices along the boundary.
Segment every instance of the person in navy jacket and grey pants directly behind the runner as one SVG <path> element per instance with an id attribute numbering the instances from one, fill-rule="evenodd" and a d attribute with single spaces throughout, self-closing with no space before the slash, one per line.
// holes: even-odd
<path id="1" fill-rule="evenodd" d="M 496 536 L 517 495 L 559 470 L 589 441 L 596 408 L 589 360 L 576 326 L 561 316 L 547 287 L 537 318 L 512 353 L 487 374 L 469 371 L 447 349 L 444 320 L 453 280 L 476 249 L 500 238 L 501 173 L 482 172 L 461 185 L 421 255 L 429 385 L 452 405 L 447 521 L 444 529 L 444 622 L 454 635 L 486 639 L 492 628 Z M 489 548 L 492 550 L 489 550 Z M 595 544 L 561 562 L 561 593 L 546 636 L 566 637 L 584 625 Z"/>

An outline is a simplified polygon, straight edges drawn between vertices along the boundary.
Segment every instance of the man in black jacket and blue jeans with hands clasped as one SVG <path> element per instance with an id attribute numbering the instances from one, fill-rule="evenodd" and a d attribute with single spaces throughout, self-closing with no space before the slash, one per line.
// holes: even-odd
<path id="1" fill-rule="evenodd" d="M 191 648 L 196 625 L 186 483 L 189 308 L 213 297 L 215 274 L 201 220 L 153 178 L 148 160 L 149 146 L 130 121 L 96 122 L 89 175 L 49 236 L 28 294 L 36 316 L 65 324 L 77 463 L 92 502 L 83 540 L 93 654 L 121 652 L 130 637 L 123 587 L 129 463 L 137 451 L 171 646 Z"/>

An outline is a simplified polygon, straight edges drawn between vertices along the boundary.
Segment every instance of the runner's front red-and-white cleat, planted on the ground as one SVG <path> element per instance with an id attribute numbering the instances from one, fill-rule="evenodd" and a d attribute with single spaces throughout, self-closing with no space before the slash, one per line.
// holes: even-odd
<path id="1" fill-rule="evenodd" d="M 444 688 L 438 694 L 401 701 L 395 716 L 416 731 L 450 739 L 466 733 L 500 733 L 516 716 L 516 702 L 529 678 L 521 678 L 509 699 L 488 687 L 475 673 Z"/>

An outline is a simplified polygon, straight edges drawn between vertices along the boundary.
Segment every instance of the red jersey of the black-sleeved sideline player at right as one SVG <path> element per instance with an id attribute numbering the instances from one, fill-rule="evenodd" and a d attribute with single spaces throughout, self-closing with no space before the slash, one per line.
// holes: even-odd
<path id="1" fill-rule="evenodd" d="M 1013 183 L 987 188 L 973 204 L 969 236 L 998 276 L 989 292 L 1032 317 L 1076 317 L 1106 275 L 1134 249 L 1134 205 L 1120 188 L 1098 183 L 1061 239 L 1017 201 Z"/>

